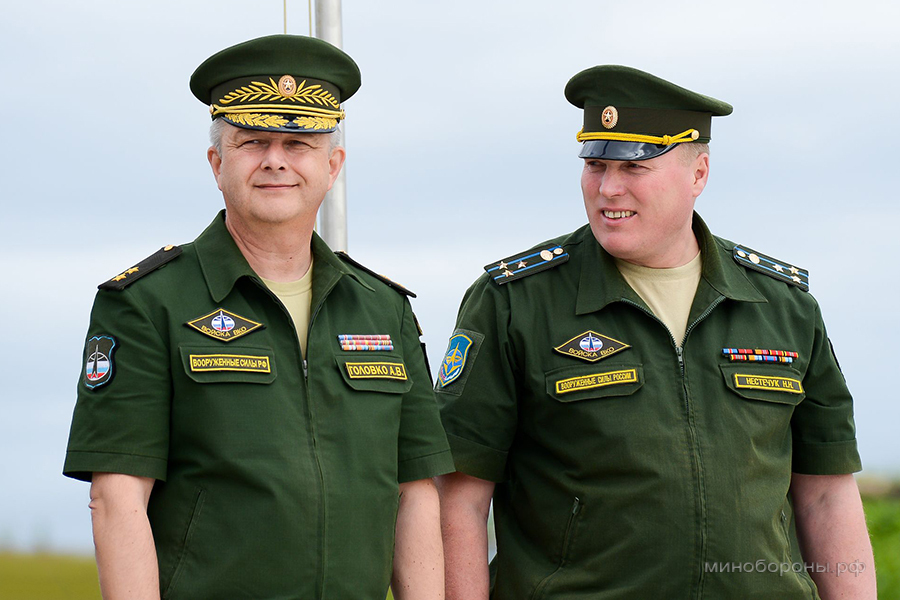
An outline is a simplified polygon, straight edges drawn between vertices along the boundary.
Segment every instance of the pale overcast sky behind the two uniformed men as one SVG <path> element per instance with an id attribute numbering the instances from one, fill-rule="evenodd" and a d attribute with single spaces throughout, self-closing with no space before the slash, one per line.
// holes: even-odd
<path id="1" fill-rule="evenodd" d="M 288 31 L 308 33 L 306 2 Z M 866 473 L 900 472 L 900 4 L 344 0 L 350 253 L 415 290 L 438 365 L 488 262 L 585 222 L 563 96 L 603 63 L 734 105 L 713 123 L 712 230 L 808 268 L 856 398 Z M 282 31 L 281 0 L 30 0 L 0 19 L 0 547 L 89 551 L 60 474 L 98 283 L 222 205 L 194 68 Z"/>

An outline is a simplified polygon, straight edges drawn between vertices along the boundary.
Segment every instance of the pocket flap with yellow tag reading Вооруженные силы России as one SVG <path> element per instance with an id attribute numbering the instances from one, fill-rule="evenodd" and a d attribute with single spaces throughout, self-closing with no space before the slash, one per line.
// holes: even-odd
<path id="1" fill-rule="evenodd" d="M 563 367 L 545 373 L 547 395 L 560 402 L 628 396 L 644 385 L 639 364 Z"/>

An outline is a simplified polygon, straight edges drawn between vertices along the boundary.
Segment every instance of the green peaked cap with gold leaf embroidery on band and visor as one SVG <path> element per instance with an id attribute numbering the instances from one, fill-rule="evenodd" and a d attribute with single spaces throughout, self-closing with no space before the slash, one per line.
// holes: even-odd
<path id="1" fill-rule="evenodd" d="M 301 35 L 231 46 L 191 75 L 191 92 L 209 105 L 213 119 L 261 131 L 334 131 L 344 118 L 341 102 L 359 86 L 359 67 L 349 55 Z"/>

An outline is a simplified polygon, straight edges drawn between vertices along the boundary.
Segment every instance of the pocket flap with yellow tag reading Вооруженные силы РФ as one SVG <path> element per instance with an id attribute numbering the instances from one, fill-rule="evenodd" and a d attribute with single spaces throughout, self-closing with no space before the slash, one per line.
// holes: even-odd
<path id="1" fill-rule="evenodd" d="M 275 353 L 252 346 L 180 346 L 184 372 L 197 383 L 272 383 Z"/>

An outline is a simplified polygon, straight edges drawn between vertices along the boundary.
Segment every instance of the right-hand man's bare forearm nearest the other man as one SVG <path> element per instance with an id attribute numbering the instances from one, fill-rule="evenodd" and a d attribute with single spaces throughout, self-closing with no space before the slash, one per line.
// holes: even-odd
<path id="1" fill-rule="evenodd" d="M 458 472 L 437 481 L 447 600 L 487 600 L 487 519 L 494 482 Z"/>

